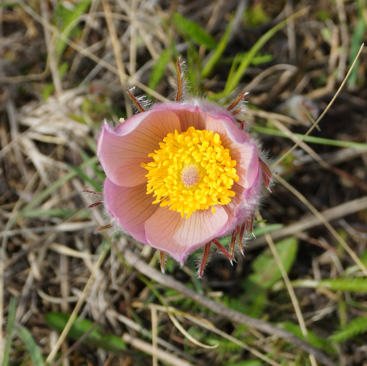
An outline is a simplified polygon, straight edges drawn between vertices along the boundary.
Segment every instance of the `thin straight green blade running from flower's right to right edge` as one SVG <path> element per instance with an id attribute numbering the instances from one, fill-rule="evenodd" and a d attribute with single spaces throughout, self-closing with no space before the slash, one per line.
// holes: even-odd
<path id="1" fill-rule="evenodd" d="M 252 126 L 251 129 L 254 132 L 263 133 L 263 134 L 266 134 L 266 135 L 289 138 L 284 132 L 276 130 L 275 128 Z M 303 138 L 302 134 L 295 133 L 294 135 L 299 139 Z M 329 139 L 329 138 L 315 137 L 315 136 L 306 136 L 304 138 L 304 141 L 305 142 L 312 142 L 314 144 L 320 144 L 320 145 L 330 145 L 330 146 L 339 146 L 339 147 L 342 147 L 342 148 L 353 148 L 353 149 L 358 149 L 358 150 L 367 150 L 367 144 L 363 144 L 361 142 L 333 140 L 333 139 Z"/>

